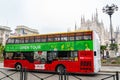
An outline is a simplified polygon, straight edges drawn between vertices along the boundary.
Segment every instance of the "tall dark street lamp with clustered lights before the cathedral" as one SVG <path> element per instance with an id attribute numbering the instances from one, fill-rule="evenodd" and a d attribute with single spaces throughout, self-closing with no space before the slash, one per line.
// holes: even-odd
<path id="1" fill-rule="evenodd" d="M 105 7 L 103 7 L 103 13 L 107 13 L 110 17 L 110 32 L 111 32 L 111 44 L 113 44 L 113 37 L 112 37 L 112 14 L 118 10 L 117 5 L 112 4 L 111 6 L 106 5 Z"/>

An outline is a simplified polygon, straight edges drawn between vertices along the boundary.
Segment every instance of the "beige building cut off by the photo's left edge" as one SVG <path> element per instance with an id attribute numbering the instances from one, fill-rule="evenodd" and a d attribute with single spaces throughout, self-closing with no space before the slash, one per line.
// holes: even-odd
<path id="1" fill-rule="evenodd" d="M 5 45 L 12 30 L 7 26 L 0 26 L 0 44 Z"/>

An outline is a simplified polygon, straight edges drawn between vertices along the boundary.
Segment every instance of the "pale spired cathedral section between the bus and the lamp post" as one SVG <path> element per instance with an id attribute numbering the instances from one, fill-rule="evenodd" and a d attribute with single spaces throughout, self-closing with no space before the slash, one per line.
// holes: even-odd
<path id="1" fill-rule="evenodd" d="M 105 29 L 103 21 L 98 20 L 98 12 L 92 15 L 91 20 L 85 20 L 85 17 L 81 17 L 80 30 L 94 30 L 97 32 L 101 45 L 109 44 L 109 32 Z"/>

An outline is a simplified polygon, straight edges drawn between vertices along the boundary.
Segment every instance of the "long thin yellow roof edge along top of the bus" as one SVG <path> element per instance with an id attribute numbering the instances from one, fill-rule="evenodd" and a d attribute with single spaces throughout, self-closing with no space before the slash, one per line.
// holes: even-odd
<path id="1" fill-rule="evenodd" d="M 21 36 L 10 36 L 10 38 L 45 36 L 45 35 L 55 35 L 55 34 L 69 34 L 69 33 L 77 33 L 77 32 L 92 32 L 92 30 L 77 30 L 77 31 L 71 31 L 71 32 L 55 32 L 55 33 L 48 33 L 48 34 L 29 34 L 29 35 L 21 35 Z"/>

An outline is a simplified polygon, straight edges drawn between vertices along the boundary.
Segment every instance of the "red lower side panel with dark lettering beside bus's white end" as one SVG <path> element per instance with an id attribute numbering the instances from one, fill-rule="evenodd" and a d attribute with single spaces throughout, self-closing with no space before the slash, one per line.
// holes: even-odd
<path id="1" fill-rule="evenodd" d="M 91 73 L 94 71 L 93 56 L 93 51 L 79 51 L 81 73 Z"/>

